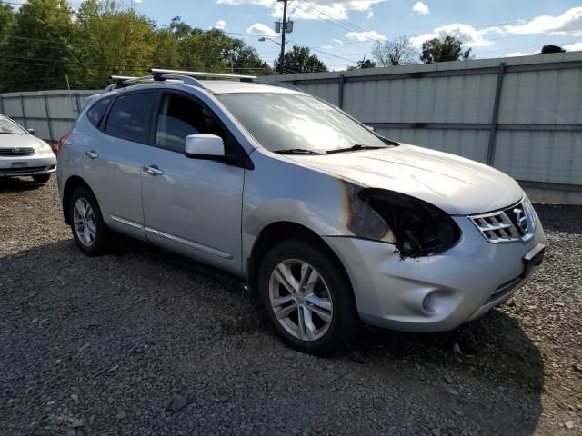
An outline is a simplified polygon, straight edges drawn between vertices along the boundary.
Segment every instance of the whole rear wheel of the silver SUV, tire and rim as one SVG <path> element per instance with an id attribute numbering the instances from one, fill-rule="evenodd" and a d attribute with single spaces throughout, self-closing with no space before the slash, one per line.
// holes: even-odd
<path id="1" fill-rule="evenodd" d="M 69 223 L 75 243 L 87 256 L 105 253 L 108 229 L 95 195 L 85 187 L 75 190 L 69 200 Z"/>

